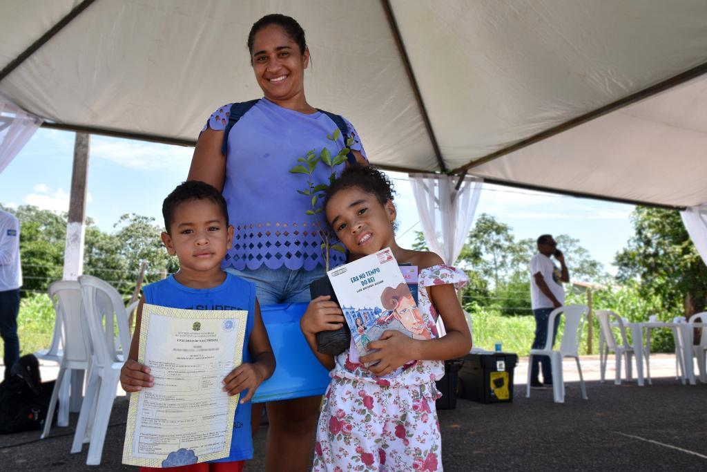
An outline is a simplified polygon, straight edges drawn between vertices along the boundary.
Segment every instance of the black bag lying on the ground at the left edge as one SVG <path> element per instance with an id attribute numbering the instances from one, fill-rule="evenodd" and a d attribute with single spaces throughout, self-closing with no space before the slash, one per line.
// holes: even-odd
<path id="1" fill-rule="evenodd" d="M 20 357 L 10 372 L 0 384 L 0 434 L 42 430 L 54 382 L 42 384 L 40 363 L 32 354 Z"/>

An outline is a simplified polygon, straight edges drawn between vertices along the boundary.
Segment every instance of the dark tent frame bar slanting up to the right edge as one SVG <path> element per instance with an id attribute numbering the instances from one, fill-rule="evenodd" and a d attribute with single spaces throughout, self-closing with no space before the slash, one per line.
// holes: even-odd
<path id="1" fill-rule="evenodd" d="M 462 171 L 467 171 L 474 167 L 481 166 L 482 164 L 491 162 L 494 159 L 506 156 L 506 154 L 510 154 L 513 151 L 518 151 L 518 149 L 530 146 L 530 144 L 535 144 L 549 137 L 553 137 L 555 134 L 559 134 L 575 126 L 582 125 L 583 123 L 594 120 L 595 118 L 607 115 L 607 113 L 611 113 L 613 111 L 619 110 L 620 108 L 624 108 L 628 105 L 643 100 L 644 98 L 648 98 L 658 93 L 664 92 L 674 86 L 684 84 L 686 81 L 695 79 L 696 77 L 699 77 L 703 74 L 707 74 L 707 62 L 703 62 L 697 67 L 693 67 L 692 69 L 684 71 L 681 74 L 677 74 L 677 76 L 672 76 L 670 77 L 670 79 L 666 79 L 662 82 L 659 82 L 658 84 L 652 85 L 648 88 L 643 88 L 643 90 L 641 91 L 631 93 L 631 95 L 625 96 L 624 98 L 619 98 L 619 100 L 609 103 L 608 105 L 604 105 L 601 108 L 597 108 L 596 110 L 592 110 L 589 113 L 585 113 L 584 115 L 575 117 L 572 120 L 563 122 L 560 125 L 556 125 L 554 127 L 546 129 L 545 131 L 533 134 L 531 137 L 522 139 L 521 141 L 507 146 L 503 149 L 493 151 L 491 154 L 487 154 L 486 156 L 483 156 L 479 159 L 469 161 L 469 163 L 464 164 L 464 166 L 457 167 L 454 170 L 450 171 L 450 174 L 460 173 Z"/>

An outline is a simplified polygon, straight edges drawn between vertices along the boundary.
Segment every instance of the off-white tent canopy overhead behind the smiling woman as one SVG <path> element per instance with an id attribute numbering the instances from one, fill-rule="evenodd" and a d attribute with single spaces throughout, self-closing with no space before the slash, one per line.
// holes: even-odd
<path id="1" fill-rule="evenodd" d="M 45 126 L 193 143 L 260 96 L 245 39 L 272 12 L 307 32 L 310 103 L 373 163 L 707 202 L 704 0 L 4 0 L 0 94 Z"/>

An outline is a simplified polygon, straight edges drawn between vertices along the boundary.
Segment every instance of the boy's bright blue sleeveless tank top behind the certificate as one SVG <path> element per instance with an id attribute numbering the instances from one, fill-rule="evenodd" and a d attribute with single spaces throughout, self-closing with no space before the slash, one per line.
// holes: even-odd
<path id="1" fill-rule="evenodd" d="M 149 284 L 143 288 L 145 303 L 188 310 L 247 310 L 245 340 L 243 342 L 243 362 L 251 362 L 248 340 L 255 319 L 255 284 L 233 274 L 226 274 L 226 280 L 212 289 L 191 289 L 185 287 L 170 275 L 165 280 Z M 241 398 L 247 391 L 241 393 Z M 238 403 L 233 420 L 233 438 L 230 442 L 230 456 L 211 462 L 230 462 L 252 459 L 253 439 L 250 433 L 250 401 Z"/>

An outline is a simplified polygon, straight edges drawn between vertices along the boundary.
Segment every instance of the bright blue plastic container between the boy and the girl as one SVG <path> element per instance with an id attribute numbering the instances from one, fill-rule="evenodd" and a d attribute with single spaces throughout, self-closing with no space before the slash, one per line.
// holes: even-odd
<path id="1" fill-rule="evenodd" d="M 300 318 L 306 303 L 261 306 L 263 323 L 270 338 L 275 372 L 253 396 L 253 403 L 323 395 L 329 385 L 329 372 L 310 350 Z"/>

